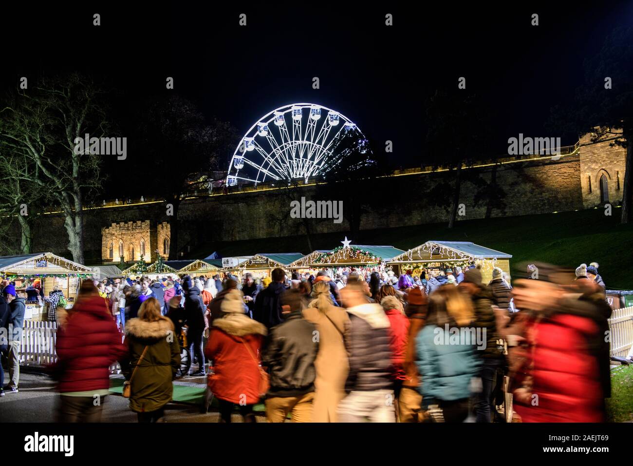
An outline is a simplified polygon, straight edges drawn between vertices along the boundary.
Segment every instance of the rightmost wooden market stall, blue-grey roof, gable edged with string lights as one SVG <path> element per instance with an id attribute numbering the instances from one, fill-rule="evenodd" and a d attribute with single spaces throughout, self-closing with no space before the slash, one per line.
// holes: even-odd
<path id="1" fill-rule="evenodd" d="M 482 281 L 492 280 L 492 269 L 500 268 L 510 276 L 510 259 L 505 252 L 489 249 L 466 241 L 427 241 L 389 261 L 398 268 L 398 273 L 408 269 L 441 269 L 460 266 L 462 269 L 474 264 L 480 266 Z M 415 275 L 415 273 L 414 273 Z"/>

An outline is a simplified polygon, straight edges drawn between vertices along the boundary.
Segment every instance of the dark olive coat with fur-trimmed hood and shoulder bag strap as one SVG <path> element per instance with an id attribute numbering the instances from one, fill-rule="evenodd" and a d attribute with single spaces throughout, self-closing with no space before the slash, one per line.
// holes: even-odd
<path id="1" fill-rule="evenodd" d="M 127 361 L 121 363 L 123 375 L 131 382 L 130 409 L 136 413 L 156 411 L 172 401 L 172 380 L 180 366 L 180 346 L 168 318 L 147 322 L 138 318 L 125 324 Z M 145 347 L 142 361 L 139 358 Z"/>

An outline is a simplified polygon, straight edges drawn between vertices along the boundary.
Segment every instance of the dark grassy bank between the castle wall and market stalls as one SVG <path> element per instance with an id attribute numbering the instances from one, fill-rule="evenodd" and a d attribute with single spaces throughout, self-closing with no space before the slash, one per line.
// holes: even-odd
<path id="1" fill-rule="evenodd" d="M 352 244 L 393 245 L 404 250 L 428 240 L 472 241 L 512 254 L 512 266 L 542 261 L 575 268 L 582 262 L 598 262 L 608 288 L 633 289 L 633 224 L 620 224 L 620 209 L 613 209 L 613 216 L 605 216 L 603 209 L 589 209 L 458 221 L 452 230 L 446 228 L 446 223 L 363 230 L 357 238 L 349 231 L 324 233 L 311 236 L 312 249 L 332 249 L 341 244 L 345 235 Z M 189 256 L 206 257 L 213 251 L 224 257 L 257 252 L 311 252 L 306 235 L 300 233 L 236 242 L 210 241 L 192 250 Z"/>

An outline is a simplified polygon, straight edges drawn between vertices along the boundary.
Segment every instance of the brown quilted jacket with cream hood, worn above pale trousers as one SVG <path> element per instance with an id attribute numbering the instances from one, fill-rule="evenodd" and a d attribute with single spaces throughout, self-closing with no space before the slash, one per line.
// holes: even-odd
<path id="1" fill-rule="evenodd" d="M 380 304 L 368 303 L 363 306 L 372 306 L 375 313 L 384 315 Z M 349 373 L 345 382 L 346 392 L 391 389 L 389 318 L 384 315 L 386 327 L 372 326 L 370 320 L 349 312 L 358 307 L 361 306 L 348 310 L 349 324 L 345 332 L 345 346 L 348 351 Z"/>

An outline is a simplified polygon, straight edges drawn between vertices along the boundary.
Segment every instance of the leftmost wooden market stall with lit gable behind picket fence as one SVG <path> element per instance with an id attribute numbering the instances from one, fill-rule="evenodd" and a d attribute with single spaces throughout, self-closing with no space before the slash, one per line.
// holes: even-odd
<path id="1" fill-rule="evenodd" d="M 45 320 L 47 306 L 37 299 L 29 300 L 28 287 L 39 283 L 44 296 L 59 287 L 68 301 L 67 307 L 71 307 L 77 298 L 81 280 L 93 278 L 94 269 L 56 256 L 52 252 L 37 252 L 0 257 L 0 275 L 3 280 L 15 282 L 17 294 L 25 298 L 25 319 L 37 321 Z"/>

